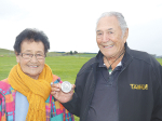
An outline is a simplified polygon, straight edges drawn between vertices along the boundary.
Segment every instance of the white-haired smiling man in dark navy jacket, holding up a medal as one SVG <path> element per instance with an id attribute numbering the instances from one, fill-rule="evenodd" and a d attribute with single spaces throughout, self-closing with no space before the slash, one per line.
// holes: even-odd
<path id="1" fill-rule="evenodd" d="M 121 13 L 104 13 L 96 27 L 99 52 L 79 71 L 75 93 L 53 84 L 52 95 L 81 121 L 162 121 L 161 65 L 131 50 L 127 36 Z"/>

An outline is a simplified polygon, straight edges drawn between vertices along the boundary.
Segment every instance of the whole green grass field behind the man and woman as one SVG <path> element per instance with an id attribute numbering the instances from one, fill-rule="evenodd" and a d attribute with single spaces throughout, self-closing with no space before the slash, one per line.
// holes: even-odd
<path id="1" fill-rule="evenodd" d="M 75 56 L 48 56 L 45 63 L 52 68 L 54 75 L 60 77 L 63 81 L 75 83 L 76 76 L 82 65 L 95 54 L 78 54 Z M 162 58 L 158 58 L 162 65 Z M 11 68 L 16 64 L 15 56 L 0 57 L 0 80 L 8 78 Z M 76 121 L 79 118 L 75 117 Z"/>

